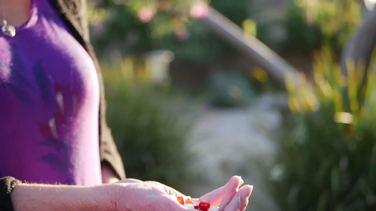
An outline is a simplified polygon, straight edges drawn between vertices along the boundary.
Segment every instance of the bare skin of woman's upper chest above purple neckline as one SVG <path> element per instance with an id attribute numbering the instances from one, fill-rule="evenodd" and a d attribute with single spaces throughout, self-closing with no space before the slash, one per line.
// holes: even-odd
<path id="1" fill-rule="evenodd" d="M 8 24 L 19 27 L 29 19 L 30 5 L 31 0 L 0 0 L 0 20 L 5 19 Z"/>

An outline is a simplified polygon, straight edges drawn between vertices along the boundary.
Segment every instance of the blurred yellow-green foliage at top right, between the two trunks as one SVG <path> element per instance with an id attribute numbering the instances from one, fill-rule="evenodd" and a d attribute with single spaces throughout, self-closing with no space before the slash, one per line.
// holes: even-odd
<path id="1" fill-rule="evenodd" d="M 309 53 L 330 45 L 338 54 L 361 19 L 358 0 L 296 0 L 283 21 L 288 35 L 282 45 Z"/>

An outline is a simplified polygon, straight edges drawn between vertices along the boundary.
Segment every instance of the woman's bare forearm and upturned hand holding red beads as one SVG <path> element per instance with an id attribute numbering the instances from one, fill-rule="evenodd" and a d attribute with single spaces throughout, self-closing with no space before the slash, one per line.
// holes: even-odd
<path id="1" fill-rule="evenodd" d="M 233 176 L 229 182 L 200 197 L 220 211 L 244 211 L 252 186 Z M 124 179 L 98 186 L 17 184 L 12 191 L 15 211 L 188 211 L 177 202 L 184 196 L 159 182 Z"/>

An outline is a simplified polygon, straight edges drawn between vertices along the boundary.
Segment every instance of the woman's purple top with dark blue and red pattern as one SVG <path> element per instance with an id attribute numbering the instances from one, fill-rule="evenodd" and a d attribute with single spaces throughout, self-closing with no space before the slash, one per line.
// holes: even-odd
<path id="1" fill-rule="evenodd" d="M 102 183 L 99 83 L 85 49 L 47 0 L 0 35 L 0 177 L 37 183 Z"/>

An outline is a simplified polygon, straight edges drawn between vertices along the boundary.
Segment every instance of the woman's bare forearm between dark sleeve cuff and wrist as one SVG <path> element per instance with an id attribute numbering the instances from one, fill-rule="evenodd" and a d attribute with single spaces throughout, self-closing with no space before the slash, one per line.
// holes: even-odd
<path id="1" fill-rule="evenodd" d="M 18 184 L 12 191 L 15 211 L 112 211 L 102 186 Z M 107 202 L 107 203 L 106 203 Z"/>

